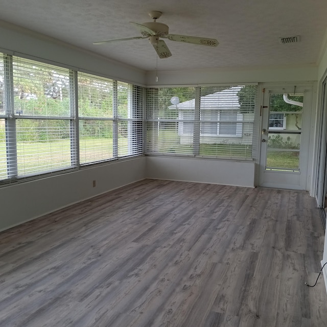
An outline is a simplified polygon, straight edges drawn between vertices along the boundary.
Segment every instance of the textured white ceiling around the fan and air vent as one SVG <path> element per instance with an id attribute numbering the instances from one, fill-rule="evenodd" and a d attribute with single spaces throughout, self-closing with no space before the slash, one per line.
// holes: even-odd
<path id="1" fill-rule="evenodd" d="M 128 22 L 151 21 L 148 12 L 158 10 L 170 33 L 219 41 L 209 48 L 165 40 L 173 56 L 158 59 L 160 71 L 293 66 L 317 62 L 327 27 L 326 0 L 0 0 L 0 8 L 2 20 L 146 71 L 156 66 L 147 39 L 92 42 L 140 36 Z M 299 43 L 278 42 L 295 35 Z"/>

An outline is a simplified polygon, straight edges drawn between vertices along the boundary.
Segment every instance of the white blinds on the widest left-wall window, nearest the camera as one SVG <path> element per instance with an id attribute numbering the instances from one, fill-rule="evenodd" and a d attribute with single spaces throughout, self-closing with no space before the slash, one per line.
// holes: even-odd
<path id="1" fill-rule="evenodd" d="M 13 57 L 12 75 L 14 106 L 6 131 L 10 177 L 75 167 L 69 70 Z"/>

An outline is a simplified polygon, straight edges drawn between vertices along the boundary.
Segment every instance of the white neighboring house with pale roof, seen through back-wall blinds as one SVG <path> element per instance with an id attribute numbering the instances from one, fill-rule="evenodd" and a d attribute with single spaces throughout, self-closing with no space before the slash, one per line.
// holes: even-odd
<path id="1" fill-rule="evenodd" d="M 252 131 L 246 131 L 249 124 L 252 125 L 254 113 L 240 112 L 238 92 L 241 88 L 233 86 L 200 98 L 200 143 L 252 144 Z M 195 99 L 169 108 L 178 109 L 180 143 L 189 144 L 194 129 Z"/>

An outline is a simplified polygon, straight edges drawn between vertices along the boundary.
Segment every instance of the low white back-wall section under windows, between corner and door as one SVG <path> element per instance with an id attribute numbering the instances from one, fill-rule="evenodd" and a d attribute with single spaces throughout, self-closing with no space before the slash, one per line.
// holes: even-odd
<path id="1" fill-rule="evenodd" d="M 147 178 L 254 186 L 255 164 L 252 161 L 156 156 L 146 159 Z"/>

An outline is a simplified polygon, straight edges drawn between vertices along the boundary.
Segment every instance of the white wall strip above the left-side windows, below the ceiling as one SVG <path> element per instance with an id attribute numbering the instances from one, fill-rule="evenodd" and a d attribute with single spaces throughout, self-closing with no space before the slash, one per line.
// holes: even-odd
<path id="1" fill-rule="evenodd" d="M 0 20 L 0 51 L 34 56 L 69 67 L 118 79 L 145 84 L 145 72 L 126 64 L 109 60 L 54 38 L 22 29 Z"/>

